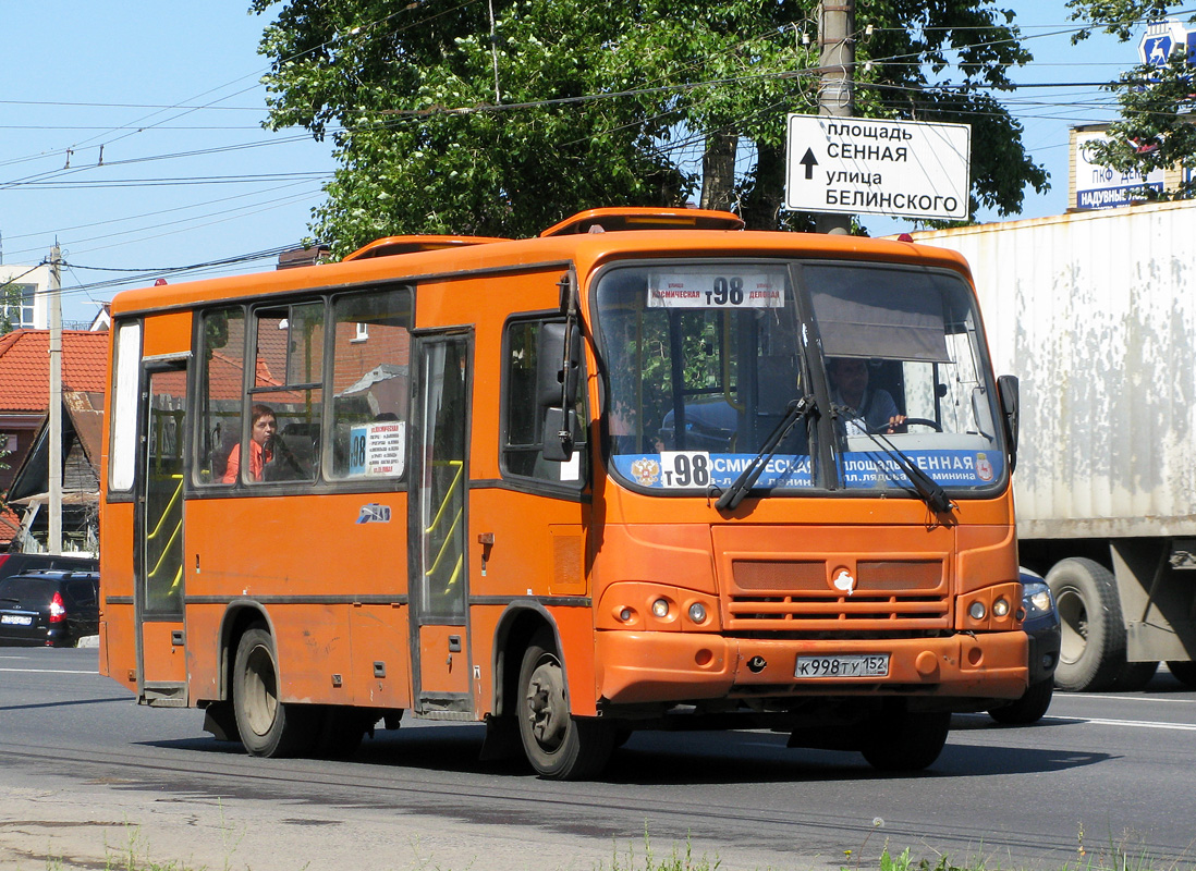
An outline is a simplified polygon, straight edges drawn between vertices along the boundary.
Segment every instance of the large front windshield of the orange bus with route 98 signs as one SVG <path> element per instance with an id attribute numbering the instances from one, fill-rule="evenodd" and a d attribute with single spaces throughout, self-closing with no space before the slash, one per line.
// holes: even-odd
<path id="1" fill-rule="evenodd" d="M 1002 484 L 980 320 L 954 272 L 653 262 L 606 270 L 594 300 L 610 467 L 633 486 L 726 489 L 762 449 L 755 487 L 777 495 L 910 492 L 907 461 L 954 496 Z M 817 413 L 787 415 L 803 399 Z"/>

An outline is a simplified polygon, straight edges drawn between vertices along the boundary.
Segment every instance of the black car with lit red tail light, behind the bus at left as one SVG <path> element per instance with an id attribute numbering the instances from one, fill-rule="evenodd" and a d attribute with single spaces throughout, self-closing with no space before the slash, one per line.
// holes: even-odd
<path id="1" fill-rule="evenodd" d="M 99 572 L 49 569 L 0 579 L 0 644 L 73 648 L 99 632 Z"/>

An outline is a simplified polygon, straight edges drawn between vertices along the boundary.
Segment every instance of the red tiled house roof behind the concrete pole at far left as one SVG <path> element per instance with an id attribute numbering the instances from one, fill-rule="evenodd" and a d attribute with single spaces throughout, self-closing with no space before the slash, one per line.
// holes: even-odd
<path id="1" fill-rule="evenodd" d="M 106 332 L 62 331 L 62 388 L 108 392 Z M 50 405 L 50 331 L 0 336 L 0 413 L 44 412 Z"/>

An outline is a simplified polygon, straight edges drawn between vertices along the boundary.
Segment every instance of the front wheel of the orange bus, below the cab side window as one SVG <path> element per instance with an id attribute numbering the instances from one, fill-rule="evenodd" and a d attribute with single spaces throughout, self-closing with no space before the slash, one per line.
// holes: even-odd
<path id="1" fill-rule="evenodd" d="M 553 637 L 537 632 L 519 668 L 519 738 L 536 773 L 548 780 L 585 780 L 606 766 L 615 734 L 606 723 L 569 713 L 565 668 Z"/>

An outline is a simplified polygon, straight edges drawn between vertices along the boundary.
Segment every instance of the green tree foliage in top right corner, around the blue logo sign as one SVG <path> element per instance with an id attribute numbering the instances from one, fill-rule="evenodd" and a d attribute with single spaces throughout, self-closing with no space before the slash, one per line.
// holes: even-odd
<path id="1" fill-rule="evenodd" d="M 1073 18 L 1084 29 L 1073 42 L 1103 30 L 1128 42 L 1147 20 L 1171 14 L 1173 4 L 1163 0 L 1070 0 Z M 1093 159 L 1121 172 L 1143 177 L 1152 170 L 1196 166 L 1196 82 L 1183 50 L 1173 51 L 1163 65 L 1139 65 L 1124 73 L 1107 90 L 1117 94 L 1121 118 L 1109 125 L 1109 137 L 1092 148 Z M 1178 188 L 1154 191 L 1143 188 L 1148 200 L 1185 200 L 1196 196 L 1196 183 L 1184 180 Z"/>

